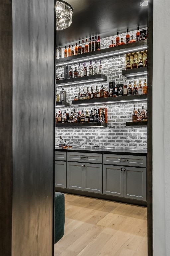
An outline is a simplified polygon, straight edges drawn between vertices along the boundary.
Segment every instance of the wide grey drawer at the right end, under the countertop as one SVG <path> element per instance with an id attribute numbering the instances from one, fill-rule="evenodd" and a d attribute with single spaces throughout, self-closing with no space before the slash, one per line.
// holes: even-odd
<path id="1" fill-rule="evenodd" d="M 146 156 L 104 154 L 104 164 L 146 167 Z"/>

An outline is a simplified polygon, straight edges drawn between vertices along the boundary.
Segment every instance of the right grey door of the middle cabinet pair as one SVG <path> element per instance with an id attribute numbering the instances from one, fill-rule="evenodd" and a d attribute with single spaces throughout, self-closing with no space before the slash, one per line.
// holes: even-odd
<path id="1" fill-rule="evenodd" d="M 84 163 L 84 191 L 102 194 L 102 165 Z"/>

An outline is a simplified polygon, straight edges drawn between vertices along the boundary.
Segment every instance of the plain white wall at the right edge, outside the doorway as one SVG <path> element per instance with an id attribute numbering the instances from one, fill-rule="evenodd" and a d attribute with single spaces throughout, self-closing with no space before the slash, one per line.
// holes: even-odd
<path id="1" fill-rule="evenodd" d="M 170 1 L 153 4 L 153 251 L 170 255 Z"/>

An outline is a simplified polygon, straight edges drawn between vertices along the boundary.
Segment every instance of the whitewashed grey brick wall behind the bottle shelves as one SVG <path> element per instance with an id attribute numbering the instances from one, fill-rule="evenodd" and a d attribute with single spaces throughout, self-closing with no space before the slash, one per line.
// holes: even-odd
<path id="1" fill-rule="evenodd" d="M 130 36 L 133 34 L 136 35 L 136 31 L 130 32 Z M 125 34 L 121 34 L 120 37 L 126 37 Z M 110 44 L 111 38 L 102 39 L 102 42 L 105 44 Z M 115 38 L 115 37 L 114 37 Z M 109 42 L 109 43 L 108 43 Z M 106 48 L 106 47 L 104 47 Z M 113 79 L 115 84 L 124 83 L 125 79 L 128 85 L 128 81 L 131 81 L 132 84 L 134 80 L 141 79 L 142 84 L 144 79 L 147 76 L 141 77 L 133 77 L 133 78 L 125 78 L 122 75 L 122 70 L 125 69 L 125 55 L 113 56 L 109 58 L 101 59 L 103 66 L 103 74 L 108 77 L 107 81 L 104 82 L 94 82 L 94 83 L 85 83 L 81 85 L 72 85 L 65 86 L 65 90 L 67 91 L 67 102 L 71 104 L 71 101 L 74 100 L 74 96 L 78 93 L 78 88 L 81 88 L 83 91 L 83 87 L 87 89 L 87 86 L 95 89 L 96 85 L 98 88 L 101 88 L 103 84 L 104 87 L 108 89 L 108 82 Z M 99 60 L 97 60 L 99 63 Z M 94 61 L 92 61 L 92 65 L 94 66 Z M 81 67 L 83 63 L 81 63 Z M 89 67 L 89 63 L 87 63 L 87 68 Z M 71 65 L 72 68 L 77 67 L 78 63 Z M 58 74 L 64 73 L 64 68 L 57 68 Z M 75 78 L 76 79 L 76 78 Z M 62 87 L 58 87 L 57 89 L 60 91 Z M 118 97 L 118 100 L 121 97 Z M 127 127 L 126 121 L 131 121 L 131 114 L 133 111 L 133 106 L 136 105 L 136 109 L 139 108 L 141 110 L 142 106 L 144 109 L 147 109 L 146 101 L 139 102 L 121 102 L 121 103 L 105 103 L 105 104 L 96 104 L 96 105 L 87 105 L 87 106 L 78 106 L 71 105 L 70 109 L 73 111 L 78 110 L 88 110 L 90 112 L 91 109 L 95 108 L 107 108 L 108 109 L 108 126 L 107 128 L 94 128 L 94 127 L 82 127 L 82 128 L 55 128 L 55 144 L 57 145 L 59 136 L 62 135 L 63 138 L 66 138 L 68 143 L 72 146 L 83 146 L 83 147 L 92 147 L 94 142 L 100 143 L 100 147 L 107 148 L 120 148 L 120 149 L 147 149 L 147 127 Z M 62 111 L 66 109 L 60 108 Z M 59 107 L 56 108 L 58 113 Z"/>

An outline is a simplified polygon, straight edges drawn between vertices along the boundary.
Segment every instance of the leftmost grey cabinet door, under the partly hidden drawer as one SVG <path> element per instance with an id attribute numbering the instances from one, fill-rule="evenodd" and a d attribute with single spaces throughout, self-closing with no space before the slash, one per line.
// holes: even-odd
<path id="1" fill-rule="evenodd" d="M 55 161 L 55 187 L 66 188 L 66 162 Z"/>

